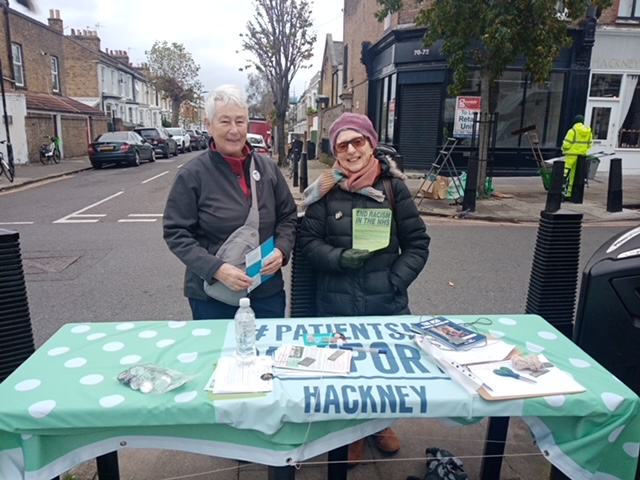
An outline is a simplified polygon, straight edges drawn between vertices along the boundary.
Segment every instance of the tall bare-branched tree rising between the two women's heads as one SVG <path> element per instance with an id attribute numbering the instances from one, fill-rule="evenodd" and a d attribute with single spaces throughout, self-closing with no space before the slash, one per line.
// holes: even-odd
<path id="1" fill-rule="evenodd" d="M 242 49 L 255 57 L 249 60 L 266 79 L 275 106 L 278 163 L 285 158 L 284 127 L 289 108 L 289 88 L 303 63 L 313 56 L 316 34 L 311 30 L 308 0 L 254 0 L 253 20 L 247 22 Z M 243 70 L 243 69 L 240 69 Z"/>

